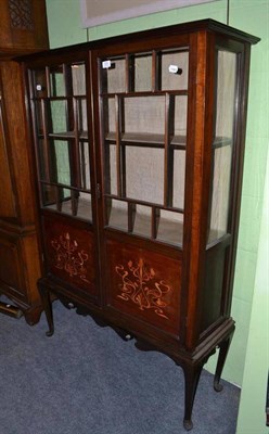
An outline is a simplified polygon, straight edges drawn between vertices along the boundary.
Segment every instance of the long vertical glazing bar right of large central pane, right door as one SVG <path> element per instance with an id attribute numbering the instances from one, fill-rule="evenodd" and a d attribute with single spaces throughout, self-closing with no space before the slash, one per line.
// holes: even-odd
<path id="1" fill-rule="evenodd" d="M 164 205 L 172 206 L 174 181 L 174 149 L 170 146 L 174 137 L 175 97 L 166 93 L 165 99 L 165 171 L 164 171 Z"/>

